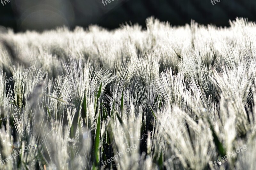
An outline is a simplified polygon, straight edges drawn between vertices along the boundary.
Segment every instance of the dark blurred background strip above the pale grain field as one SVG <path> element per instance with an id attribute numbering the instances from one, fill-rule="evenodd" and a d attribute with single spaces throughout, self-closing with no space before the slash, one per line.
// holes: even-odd
<path id="1" fill-rule="evenodd" d="M 256 20 L 255 0 L 221 0 L 215 5 L 210 0 L 115 0 L 104 4 L 102 0 L 11 0 L 0 4 L 0 26 L 15 32 L 91 24 L 115 29 L 125 22 L 145 27 L 150 16 L 177 26 L 191 19 L 217 26 L 228 26 L 228 20 L 236 17 Z"/>

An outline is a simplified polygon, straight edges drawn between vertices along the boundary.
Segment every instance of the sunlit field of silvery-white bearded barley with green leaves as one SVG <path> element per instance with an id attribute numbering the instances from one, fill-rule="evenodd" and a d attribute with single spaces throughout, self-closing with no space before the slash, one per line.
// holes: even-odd
<path id="1" fill-rule="evenodd" d="M 256 24 L 0 33 L 0 169 L 254 169 Z"/>

